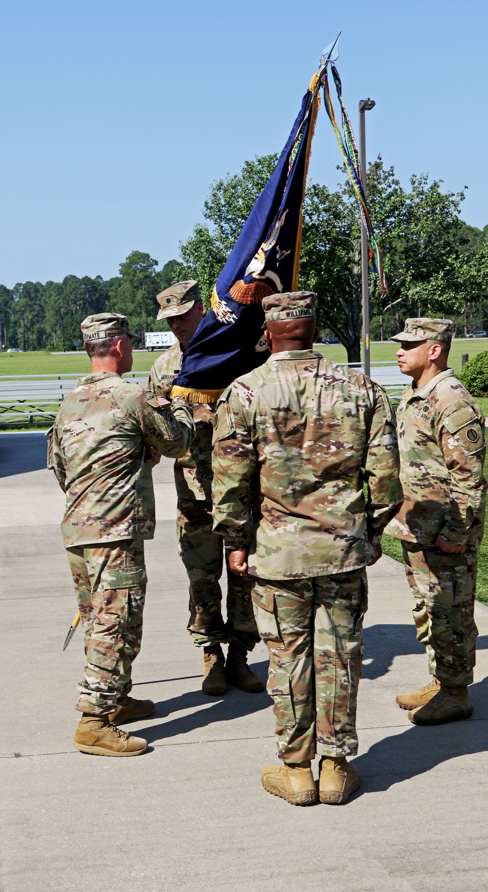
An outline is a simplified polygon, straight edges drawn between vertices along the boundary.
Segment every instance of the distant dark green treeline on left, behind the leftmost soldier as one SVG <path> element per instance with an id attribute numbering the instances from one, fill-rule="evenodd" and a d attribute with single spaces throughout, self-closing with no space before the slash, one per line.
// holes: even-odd
<path id="1" fill-rule="evenodd" d="M 156 294 L 178 281 L 181 264 L 170 260 L 161 269 L 149 254 L 133 251 L 120 263 L 120 276 L 66 276 L 62 282 L 0 285 L 0 343 L 27 350 L 75 350 L 81 344 L 81 321 L 91 313 L 115 310 L 128 316 L 133 331 L 161 331 L 156 321 Z"/>

